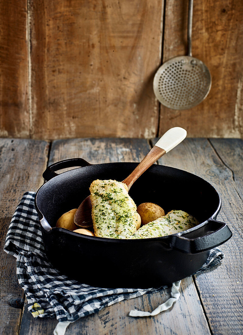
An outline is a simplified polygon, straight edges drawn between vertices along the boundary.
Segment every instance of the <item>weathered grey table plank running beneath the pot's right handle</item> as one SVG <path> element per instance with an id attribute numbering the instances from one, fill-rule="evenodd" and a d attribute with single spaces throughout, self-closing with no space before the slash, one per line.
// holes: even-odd
<path id="1" fill-rule="evenodd" d="M 223 151 L 224 141 L 221 143 Z M 226 256 L 222 266 L 196 275 L 195 280 L 212 332 L 238 335 L 242 332 L 243 319 L 242 199 L 232 172 L 206 139 L 186 139 L 159 162 L 206 179 L 221 195 L 218 219 L 229 225 L 233 237 L 220 247 Z"/>

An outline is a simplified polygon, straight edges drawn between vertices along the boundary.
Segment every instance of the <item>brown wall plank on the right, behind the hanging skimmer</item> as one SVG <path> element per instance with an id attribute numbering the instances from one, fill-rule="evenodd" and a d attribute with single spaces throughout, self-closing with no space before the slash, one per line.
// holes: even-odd
<path id="1" fill-rule="evenodd" d="M 166 0 L 163 62 L 187 53 L 188 1 Z M 206 99 L 186 111 L 161 106 L 160 130 L 181 126 L 190 137 L 243 136 L 243 2 L 194 0 L 192 56 L 212 75 Z"/>

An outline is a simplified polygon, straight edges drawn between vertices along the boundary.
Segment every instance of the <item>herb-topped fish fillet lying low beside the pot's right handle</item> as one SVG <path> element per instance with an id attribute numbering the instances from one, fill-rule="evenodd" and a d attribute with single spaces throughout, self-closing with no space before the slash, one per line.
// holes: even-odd
<path id="1" fill-rule="evenodd" d="M 143 225 L 133 234 L 132 238 L 148 239 L 162 237 L 192 228 L 197 224 L 199 222 L 192 215 L 182 210 L 172 210 L 167 215 Z"/>

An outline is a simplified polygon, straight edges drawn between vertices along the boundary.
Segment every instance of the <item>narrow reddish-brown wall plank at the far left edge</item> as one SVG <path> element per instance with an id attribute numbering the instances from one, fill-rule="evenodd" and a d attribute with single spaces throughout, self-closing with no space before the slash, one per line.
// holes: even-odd
<path id="1" fill-rule="evenodd" d="M 26 0 L 0 2 L 0 136 L 28 137 Z"/>

